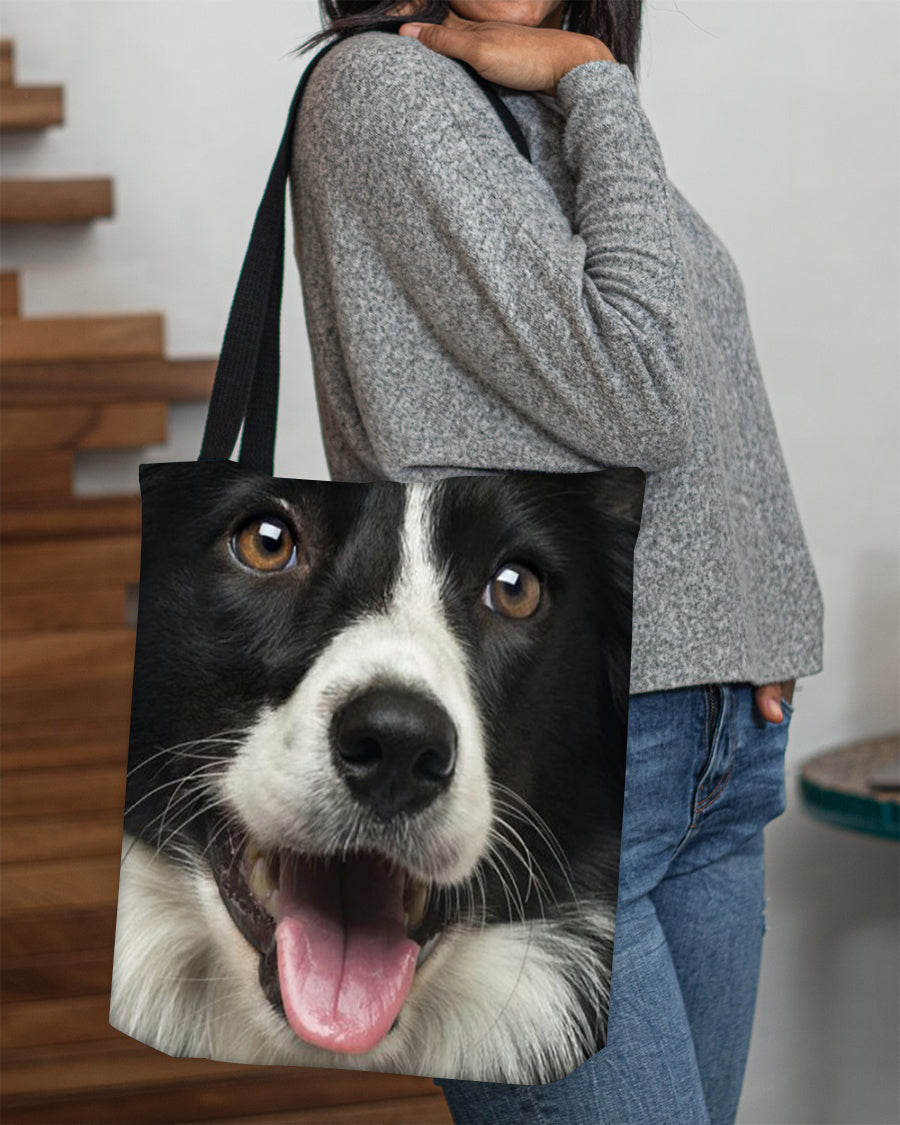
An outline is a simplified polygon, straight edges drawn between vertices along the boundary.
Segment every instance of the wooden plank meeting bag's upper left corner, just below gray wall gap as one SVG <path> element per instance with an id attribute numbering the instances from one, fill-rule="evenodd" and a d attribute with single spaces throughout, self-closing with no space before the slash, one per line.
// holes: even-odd
<path id="1" fill-rule="evenodd" d="M 3 540 L 58 539 L 141 533 L 140 496 L 84 496 L 54 504 L 6 505 L 0 511 Z"/>

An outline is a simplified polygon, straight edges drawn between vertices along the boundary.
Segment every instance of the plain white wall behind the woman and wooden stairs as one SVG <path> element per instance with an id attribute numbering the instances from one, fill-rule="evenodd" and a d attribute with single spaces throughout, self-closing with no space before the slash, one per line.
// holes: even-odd
<path id="1" fill-rule="evenodd" d="M 4 0 L 2 16 L 20 80 L 66 88 L 66 126 L 4 140 L 4 174 L 116 180 L 112 222 L 4 235 L 27 313 L 159 308 L 171 356 L 214 354 L 317 6 Z M 896 0 L 647 2 L 641 97 L 672 180 L 740 267 L 825 594 L 792 784 L 817 749 L 898 726 L 899 32 Z M 277 469 L 324 477 L 290 263 L 286 294 Z M 196 457 L 202 412 L 173 422 L 163 449 L 86 458 L 80 488 Z M 896 1119 L 896 849 L 793 806 L 768 846 L 742 1119 Z"/>

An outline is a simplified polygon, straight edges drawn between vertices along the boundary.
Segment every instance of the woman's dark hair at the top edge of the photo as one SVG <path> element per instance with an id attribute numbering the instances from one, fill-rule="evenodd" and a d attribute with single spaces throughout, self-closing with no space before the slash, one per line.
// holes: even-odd
<path id="1" fill-rule="evenodd" d="M 642 0 L 562 0 L 562 27 L 601 39 L 616 62 L 624 63 L 637 79 Z M 416 16 L 393 16 L 397 0 L 320 0 L 323 29 L 298 47 L 303 53 L 332 36 L 344 38 L 357 32 L 380 28 L 389 32 L 415 19 L 417 24 L 440 24 L 450 0 L 422 0 Z"/>

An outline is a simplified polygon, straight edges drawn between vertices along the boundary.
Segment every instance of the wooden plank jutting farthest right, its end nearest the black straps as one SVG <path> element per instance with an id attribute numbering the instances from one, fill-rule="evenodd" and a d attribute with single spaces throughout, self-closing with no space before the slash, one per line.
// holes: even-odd
<path id="1" fill-rule="evenodd" d="M 0 368 L 0 405 L 135 398 L 206 402 L 215 376 L 216 361 L 210 359 L 4 363 Z"/>

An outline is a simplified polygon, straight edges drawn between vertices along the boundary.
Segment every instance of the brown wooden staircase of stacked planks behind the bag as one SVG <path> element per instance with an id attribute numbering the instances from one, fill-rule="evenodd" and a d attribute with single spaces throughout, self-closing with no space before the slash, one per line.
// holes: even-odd
<path id="1" fill-rule="evenodd" d="M 58 87 L 14 84 L 9 40 L 0 82 L 0 130 L 62 122 Z M 0 219 L 88 222 L 111 199 L 108 180 L 3 181 Z M 0 317 L 3 1122 L 449 1122 L 429 1079 L 172 1059 L 109 1026 L 141 504 L 136 479 L 75 497 L 73 465 L 164 441 L 215 361 L 168 359 L 159 314 L 25 316 L 9 271 Z"/>

